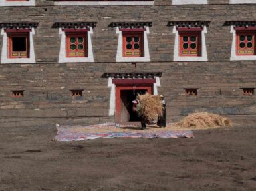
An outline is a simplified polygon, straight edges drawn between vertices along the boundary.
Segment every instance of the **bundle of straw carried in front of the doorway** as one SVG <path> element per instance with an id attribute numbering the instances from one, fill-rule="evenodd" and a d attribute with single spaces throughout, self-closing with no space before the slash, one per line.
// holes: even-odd
<path id="1" fill-rule="evenodd" d="M 162 115 L 162 103 L 160 96 L 146 93 L 144 95 L 138 95 L 138 100 L 140 101 L 138 115 L 146 118 L 148 122 L 157 120 L 158 116 Z"/>

